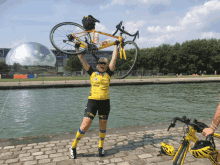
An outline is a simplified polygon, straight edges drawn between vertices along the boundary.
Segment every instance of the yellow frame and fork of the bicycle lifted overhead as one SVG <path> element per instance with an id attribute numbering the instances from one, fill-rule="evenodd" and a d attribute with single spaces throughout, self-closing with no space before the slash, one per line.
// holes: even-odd
<path id="1" fill-rule="evenodd" d="M 124 41 L 123 41 L 123 38 L 122 38 L 122 34 L 121 34 L 119 37 L 117 37 L 117 36 L 113 36 L 113 35 L 108 34 L 108 33 L 96 31 L 95 29 L 93 29 L 93 30 L 88 30 L 88 31 L 83 31 L 83 32 L 80 32 L 80 33 L 72 33 L 72 36 L 80 43 L 80 47 L 82 47 L 82 48 L 84 48 L 84 49 L 87 47 L 87 44 L 84 43 L 84 42 L 82 42 L 79 38 L 85 36 L 87 33 L 92 33 L 92 36 L 94 36 L 94 33 L 99 33 L 99 34 L 106 35 L 106 36 L 113 37 L 113 38 L 117 39 L 117 40 L 120 42 L 120 43 L 119 43 L 119 54 L 120 54 L 120 58 L 122 59 L 122 54 L 123 54 L 123 57 L 124 57 L 124 59 L 126 60 L 125 49 L 124 49 L 124 47 L 122 46 L 122 43 L 124 42 Z M 82 34 L 82 35 L 76 37 L 76 36 L 75 36 L 76 34 Z M 75 42 L 74 42 L 74 43 L 75 43 Z M 92 43 L 94 43 L 93 37 L 92 37 Z M 111 42 L 111 43 L 108 43 L 108 44 L 105 44 L 105 45 L 103 45 L 103 46 L 98 47 L 98 50 L 101 50 L 101 49 L 104 49 L 104 48 L 113 46 L 114 44 L 115 44 L 115 41 L 114 41 L 114 42 Z"/>

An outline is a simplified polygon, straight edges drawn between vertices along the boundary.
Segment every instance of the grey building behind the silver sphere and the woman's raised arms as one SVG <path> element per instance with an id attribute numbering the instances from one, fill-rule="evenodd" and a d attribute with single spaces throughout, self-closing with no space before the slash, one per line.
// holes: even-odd
<path id="1" fill-rule="evenodd" d="M 54 48 L 50 48 L 50 50 L 56 56 L 56 64 L 55 64 L 56 71 L 57 72 L 64 72 L 64 67 L 66 65 L 66 62 L 71 55 L 66 55 L 62 52 L 57 51 Z M 5 58 L 6 58 L 9 51 L 10 51 L 10 48 L 0 48 L 0 62 L 5 62 Z M 99 58 L 106 57 L 109 60 L 112 56 L 112 51 L 100 50 L 96 56 Z M 86 61 L 89 63 L 90 66 L 92 66 L 93 68 L 96 67 L 96 65 L 97 65 L 96 60 L 91 54 L 85 54 L 84 58 L 86 59 Z"/>

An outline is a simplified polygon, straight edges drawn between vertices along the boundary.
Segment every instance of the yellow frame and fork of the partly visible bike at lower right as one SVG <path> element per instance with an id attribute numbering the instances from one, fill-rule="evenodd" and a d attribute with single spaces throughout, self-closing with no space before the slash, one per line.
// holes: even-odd
<path id="1" fill-rule="evenodd" d="M 180 165 L 183 165 L 183 162 L 186 158 L 186 154 L 189 150 L 189 146 L 190 146 L 190 141 L 193 141 L 194 143 L 196 143 L 198 141 L 198 138 L 195 135 L 195 132 L 197 132 L 196 130 L 194 130 L 193 127 L 189 128 L 189 132 L 188 134 L 183 138 L 182 143 L 178 149 L 178 151 L 176 152 L 174 158 L 173 158 L 173 165 L 177 165 L 178 160 L 180 159 Z M 219 134 L 214 133 L 213 135 L 214 137 L 220 138 Z M 218 153 L 218 151 L 216 150 L 215 153 Z M 180 157 L 181 156 L 181 157 Z M 219 163 L 214 159 L 213 156 L 211 156 L 209 158 L 209 160 L 214 164 L 214 165 L 219 165 Z M 179 164 L 178 164 L 179 165 Z"/>

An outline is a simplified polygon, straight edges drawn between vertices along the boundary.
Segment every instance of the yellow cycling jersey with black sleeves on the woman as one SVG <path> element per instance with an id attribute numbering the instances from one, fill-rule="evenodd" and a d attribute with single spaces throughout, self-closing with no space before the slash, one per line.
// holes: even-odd
<path id="1" fill-rule="evenodd" d="M 107 100 L 109 99 L 109 85 L 113 72 L 107 68 L 106 72 L 100 74 L 90 66 L 88 70 L 91 81 L 91 90 L 88 99 Z"/>

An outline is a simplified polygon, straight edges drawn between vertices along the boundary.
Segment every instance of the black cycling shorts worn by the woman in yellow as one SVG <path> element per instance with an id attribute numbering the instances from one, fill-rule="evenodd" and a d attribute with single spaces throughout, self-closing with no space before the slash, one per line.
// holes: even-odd
<path id="1" fill-rule="evenodd" d="M 110 100 L 88 99 L 84 117 L 88 117 L 93 120 L 97 111 L 100 120 L 108 120 L 108 115 L 110 112 Z"/>

